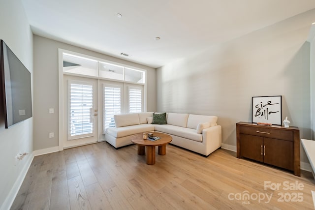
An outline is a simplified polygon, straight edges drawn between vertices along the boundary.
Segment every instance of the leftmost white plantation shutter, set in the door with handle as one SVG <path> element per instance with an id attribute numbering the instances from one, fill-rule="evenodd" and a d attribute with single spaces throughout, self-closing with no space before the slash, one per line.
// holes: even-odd
<path id="1" fill-rule="evenodd" d="M 93 84 L 69 81 L 68 139 L 93 136 Z"/>

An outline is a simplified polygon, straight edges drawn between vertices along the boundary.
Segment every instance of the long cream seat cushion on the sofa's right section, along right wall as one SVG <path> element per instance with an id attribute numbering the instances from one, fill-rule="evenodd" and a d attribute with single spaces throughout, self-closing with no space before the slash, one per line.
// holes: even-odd
<path id="1" fill-rule="evenodd" d="M 196 142 L 202 142 L 202 134 L 196 132 L 196 129 L 180 127 L 170 124 L 162 124 L 155 126 L 156 131 L 187 138 Z M 158 135 L 157 135 L 158 136 Z"/>

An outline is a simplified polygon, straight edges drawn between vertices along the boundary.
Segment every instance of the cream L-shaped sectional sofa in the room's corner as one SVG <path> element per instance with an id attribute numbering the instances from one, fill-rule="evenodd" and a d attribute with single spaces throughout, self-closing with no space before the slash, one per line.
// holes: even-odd
<path id="1" fill-rule="evenodd" d="M 116 127 L 106 129 L 105 140 L 120 148 L 133 144 L 134 134 L 162 132 L 172 136 L 171 144 L 204 156 L 221 147 L 221 125 L 216 116 L 166 113 L 167 124 L 151 124 L 152 118 L 153 112 L 115 115 Z"/>

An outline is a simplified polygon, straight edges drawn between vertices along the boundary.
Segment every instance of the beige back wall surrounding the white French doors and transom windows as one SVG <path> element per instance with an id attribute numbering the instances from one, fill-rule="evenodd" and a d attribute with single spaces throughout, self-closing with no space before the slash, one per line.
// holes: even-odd
<path id="1" fill-rule="evenodd" d="M 156 111 L 154 68 L 99 54 L 59 41 L 34 35 L 34 150 L 58 146 L 58 48 L 147 70 L 147 110 Z M 55 114 L 49 114 L 49 108 Z M 54 132 L 54 138 L 48 133 Z"/>

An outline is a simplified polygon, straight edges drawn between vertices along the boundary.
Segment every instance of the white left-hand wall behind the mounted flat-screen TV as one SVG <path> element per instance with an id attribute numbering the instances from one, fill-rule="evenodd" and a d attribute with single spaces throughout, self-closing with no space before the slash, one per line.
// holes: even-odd
<path id="1" fill-rule="evenodd" d="M 20 0 L 0 0 L 0 8 L 0 39 L 33 75 L 32 32 L 22 3 Z M 3 103 L 2 99 L 0 103 Z M 5 129 L 3 110 L 0 112 L 0 209 L 6 210 L 11 206 L 32 161 L 33 119 Z M 19 152 L 28 152 L 29 155 L 14 166 L 14 157 Z"/>

